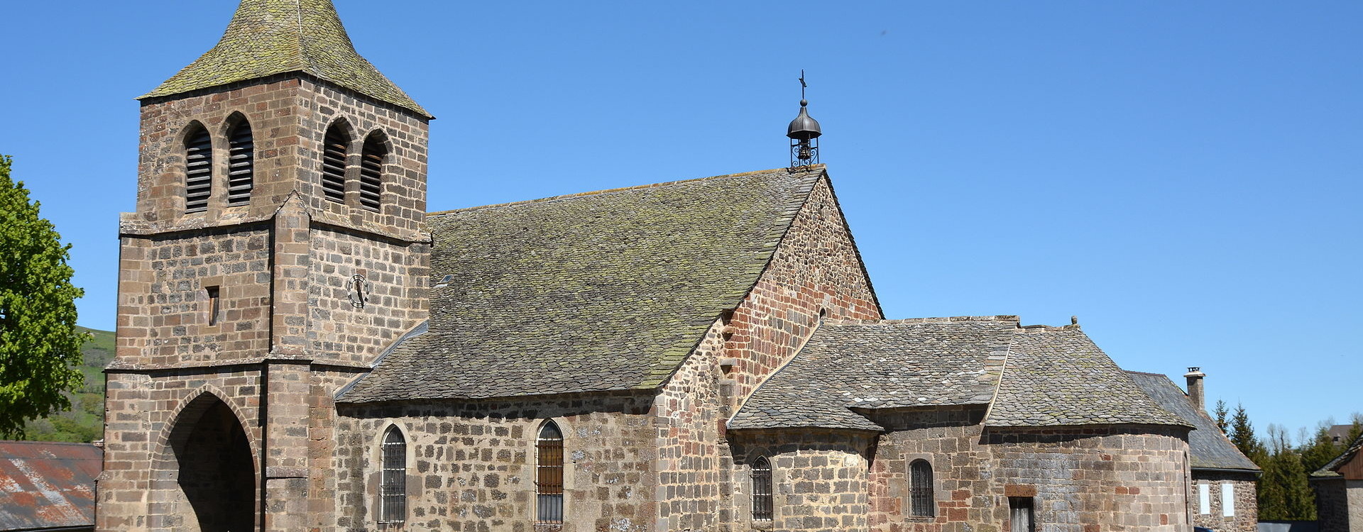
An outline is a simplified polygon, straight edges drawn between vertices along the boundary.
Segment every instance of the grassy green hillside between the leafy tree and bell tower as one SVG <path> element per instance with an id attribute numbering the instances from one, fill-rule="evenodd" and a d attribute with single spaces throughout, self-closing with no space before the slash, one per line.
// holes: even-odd
<path id="1" fill-rule="evenodd" d="M 80 347 L 85 386 L 71 397 L 71 410 L 25 426 L 26 439 L 91 442 L 104 437 L 104 366 L 113 361 L 113 332 L 78 327 L 91 339 Z"/>

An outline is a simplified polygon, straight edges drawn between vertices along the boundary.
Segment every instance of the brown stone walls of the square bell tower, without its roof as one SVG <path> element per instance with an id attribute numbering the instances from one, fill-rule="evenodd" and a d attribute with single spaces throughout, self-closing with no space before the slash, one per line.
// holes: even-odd
<path id="1" fill-rule="evenodd" d="M 230 207 L 228 132 L 241 120 L 254 182 L 249 203 Z M 350 137 L 343 201 L 320 185 L 334 124 Z M 213 529 L 206 516 L 240 510 L 204 506 L 221 494 L 196 495 L 180 478 L 183 464 L 214 460 L 177 439 L 203 411 L 241 425 L 254 488 L 229 495 L 255 501 L 255 528 L 335 527 L 334 395 L 427 317 L 427 124 L 303 73 L 143 101 L 138 211 L 120 225 L 98 529 Z M 184 139 L 198 127 L 213 143 L 213 193 L 207 210 L 185 212 Z M 358 201 L 371 135 L 387 148 L 378 211 Z"/>

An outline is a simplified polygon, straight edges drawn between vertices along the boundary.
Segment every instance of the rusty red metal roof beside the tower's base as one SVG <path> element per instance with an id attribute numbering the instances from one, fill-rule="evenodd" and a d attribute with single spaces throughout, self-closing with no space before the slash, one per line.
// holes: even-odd
<path id="1" fill-rule="evenodd" d="M 93 527 L 102 461 L 91 444 L 0 441 L 0 531 Z"/>

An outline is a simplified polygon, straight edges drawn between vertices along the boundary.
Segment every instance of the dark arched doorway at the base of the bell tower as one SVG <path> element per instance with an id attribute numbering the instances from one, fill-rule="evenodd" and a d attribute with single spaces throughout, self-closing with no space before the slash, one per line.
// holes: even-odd
<path id="1" fill-rule="evenodd" d="M 241 420 L 204 393 L 174 420 L 158 499 L 176 531 L 251 532 L 256 524 L 256 475 Z"/>

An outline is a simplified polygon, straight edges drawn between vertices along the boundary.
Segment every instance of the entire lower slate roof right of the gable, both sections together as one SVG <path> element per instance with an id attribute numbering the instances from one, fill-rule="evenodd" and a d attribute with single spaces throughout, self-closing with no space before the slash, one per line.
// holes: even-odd
<path id="1" fill-rule="evenodd" d="M 984 425 L 1190 426 L 1160 408 L 1077 325 L 1015 316 L 829 321 L 729 429 L 882 430 L 859 410 L 988 404 Z"/>

